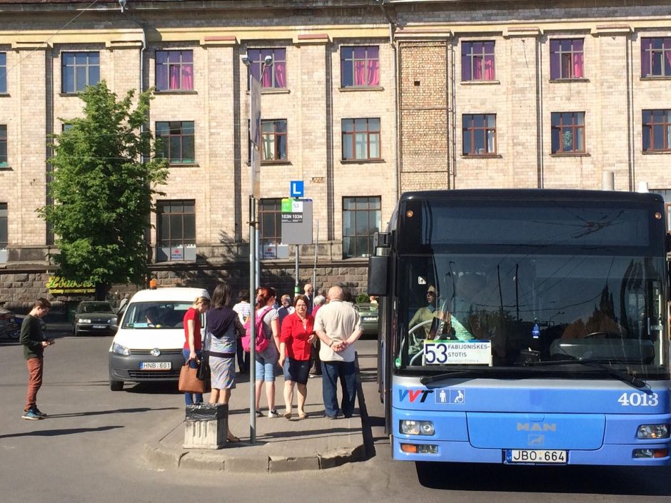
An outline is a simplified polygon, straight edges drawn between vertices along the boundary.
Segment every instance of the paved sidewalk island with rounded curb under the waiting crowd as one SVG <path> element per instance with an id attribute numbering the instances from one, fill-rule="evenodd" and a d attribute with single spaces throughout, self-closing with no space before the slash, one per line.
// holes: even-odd
<path id="1" fill-rule="evenodd" d="M 360 371 L 358 371 L 360 375 Z M 184 415 L 176 412 L 166 427 L 157 427 L 155 435 L 144 446 L 143 457 L 158 469 L 210 469 L 226 472 L 289 472 L 294 470 L 326 469 L 347 462 L 365 459 L 362 421 L 365 420 L 365 400 L 357 379 L 357 407 L 353 417 L 342 415 L 336 420 L 324 417 L 322 380 L 308 380 L 308 417 L 298 420 L 296 390 L 293 417 L 267 417 L 265 395 L 261 398 L 264 417 L 256 418 L 256 443 L 249 442 L 250 417 L 248 375 L 241 375 L 231 397 L 228 423 L 231 432 L 241 442 L 228 443 L 223 449 L 184 449 Z M 284 379 L 276 379 L 276 405 L 284 413 Z M 206 395 L 207 400 L 208 395 Z M 340 399 L 338 399 L 340 400 Z M 362 417 L 362 407 L 363 416 Z"/>

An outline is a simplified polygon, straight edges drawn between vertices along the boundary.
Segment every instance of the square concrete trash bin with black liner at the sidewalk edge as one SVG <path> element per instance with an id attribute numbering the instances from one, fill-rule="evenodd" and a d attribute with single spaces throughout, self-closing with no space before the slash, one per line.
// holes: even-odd
<path id="1" fill-rule="evenodd" d="M 228 405 L 198 404 L 186 406 L 185 449 L 221 449 L 226 446 Z"/>

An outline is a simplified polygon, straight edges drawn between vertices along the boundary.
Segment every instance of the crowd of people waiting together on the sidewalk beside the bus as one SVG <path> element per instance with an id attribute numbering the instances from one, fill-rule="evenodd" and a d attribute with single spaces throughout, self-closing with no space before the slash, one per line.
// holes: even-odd
<path id="1" fill-rule="evenodd" d="M 326 417 L 336 419 L 340 414 L 351 417 L 356 396 L 353 343 L 362 334 L 360 317 L 339 286 L 329 288 L 326 295 L 314 295 L 311 284 L 303 290 L 303 295 L 296 295 L 293 300 L 289 295 L 278 299 L 271 287 L 256 290 L 256 316 L 263 318 L 263 335 L 268 340 L 268 347 L 255 355 L 256 415 L 291 419 L 296 390 L 296 415 L 298 420 L 306 419 L 308 380 L 321 376 Z M 233 304 L 231 288 L 220 283 L 211 299 L 197 298 L 184 315 L 184 360 L 195 367 L 206 351 L 211 368 L 211 404 L 228 404 L 231 390 L 236 387 L 236 360 L 237 373 L 250 370 L 249 353 L 243 351 L 241 344 L 252 313 L 249 300 L 248 290 L 241 290 L 238 302 L 229 307 Z M 201 340 L 200 315 L 206 312 L 205 339 Z M 283 414 L 275 404 L 278 369 L 284 375 Z M 340 404 L 338 381 L 343 388 Z M 265 414 L 261 412 L 264 386 L 268 406 Z M 201 403 L 203 395 L 186 393 L 185 402 Z M 230 430 L 228 442 L 239 442 Z"/>

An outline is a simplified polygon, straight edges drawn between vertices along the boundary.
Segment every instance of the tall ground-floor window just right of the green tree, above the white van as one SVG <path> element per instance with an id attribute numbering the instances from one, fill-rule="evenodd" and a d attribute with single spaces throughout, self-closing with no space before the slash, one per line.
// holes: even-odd
<path id="1" fill-rule="evenodd" d="M 196 203 L 159 200 L 156 203 L 158 262 L 196 260 Z"/>

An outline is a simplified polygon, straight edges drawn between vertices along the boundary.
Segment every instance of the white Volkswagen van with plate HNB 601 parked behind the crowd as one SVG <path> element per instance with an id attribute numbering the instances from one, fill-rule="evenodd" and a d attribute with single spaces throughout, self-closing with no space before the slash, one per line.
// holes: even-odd
<path id="1" fill-rule="evenodd" d="M 109 348 L 112 391 L 123 390 L 126 381 L 179 379 L 184 315 L 198 297 L 210 295 L 203 288 L 157 288 L 133 295 Z"/>

